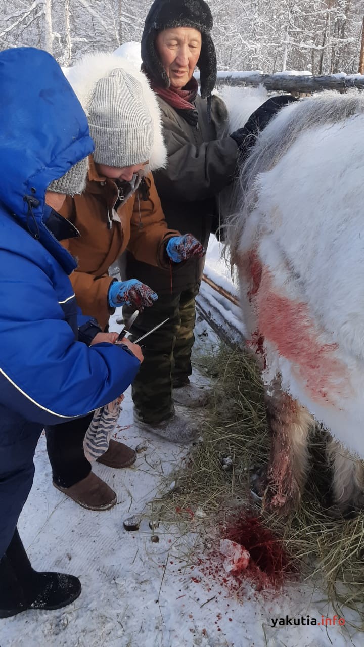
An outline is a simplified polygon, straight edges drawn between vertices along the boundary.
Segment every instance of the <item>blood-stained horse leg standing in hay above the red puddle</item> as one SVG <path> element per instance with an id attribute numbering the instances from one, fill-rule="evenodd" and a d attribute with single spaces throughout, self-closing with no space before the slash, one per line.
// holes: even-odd
<path id="1" fill-rule="evenodd" d="M 277 380 L 266 389 L 266 411 L 271 433 L 264 505 L 286 513 L 298 505 L 308 472 L 310 413 L 284 393 Z"/>

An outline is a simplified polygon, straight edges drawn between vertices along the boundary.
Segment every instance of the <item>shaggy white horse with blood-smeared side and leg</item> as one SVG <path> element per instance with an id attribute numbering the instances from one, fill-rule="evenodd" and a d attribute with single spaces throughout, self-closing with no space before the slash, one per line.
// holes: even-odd
<path id="1" fill-rule="evenodd" d="M 233 115 L 236 94 L 223 98 Z M 241 91 L 239 103 L 241 113 Z M 233 119 L 231 129 L 246 118 Z M 332 435 L 339 509 L 362 507 L 363 92 L 324 91 L 279 111 L 241 170 L 226 232 L 247 344 L 266 384 L 271 455 L 260 484 L 264 501 L 282 510 L 299 502 L 316 420 Z"/>

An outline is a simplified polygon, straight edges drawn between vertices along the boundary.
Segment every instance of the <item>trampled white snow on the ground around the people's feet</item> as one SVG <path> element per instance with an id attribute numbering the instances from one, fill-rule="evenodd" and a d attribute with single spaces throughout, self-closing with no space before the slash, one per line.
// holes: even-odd
<path id="1" fill-rule="evenodd" d="M 228 273 L 216 262 L 215 244 L 207 272 Z M 233 286 L 230 286 L 233 290 Z M 115 317 L 114 319 L 116 319 Z M 216 344 L 205 322 L 197 327 L 197 347 Z M 195 375 L 196 379 L 201 379 Z M 345 611 L 346 627 L 293 626 L 293 618 L 332 617 L 323 593 L 310 582 L 281 593 L 258 593 L 246 583 L 237 597 L 220 576 L 210 578 L 196 564 L 200 516 L 180 536 L 175 526 L 150 529 L 150 504 L 171 487 L 175 468 L 188 457 L 188 447 L 157 437 L 141 437 L 132 423 L 130 391 L 117 428 L 120 441 L 144 445 L 127 470 L 103 465 L 93 469 L 118 494 L 107 512 L 80 508 L 52 487 L 51 468 L 42 435 L 36 450 L 36 476 L 19 520 L 19 531 L 36 569 L 57 569 L 82 581 L 82 594 L 58 611 L 27 611 L 0 621 L 1 647 L 326 647 L 360 646 L 362 634 L 348 631 L 355 620 Z M 172 486 L 173 487 L 173 486 Z M 141 517 L 139 531 L 127 532 L 123 520 Z M 152 534 L 159 537 L 153 543 Z M 213 540 L 212 540 L 213 541 Z M 191 552 L 192 547 L 194 551 Z M 203 555 L 200 554 L 201 557 Z M 222 576 L 226 574 L 222 571 Z M 227 577 L 229 583 L 229 576 Z M 288 619 L 284 626 L 273 619 Z M 307 620 L 306 620 L 307 622 Z M 351 633 L 351 638 L 349 637 Z"/>

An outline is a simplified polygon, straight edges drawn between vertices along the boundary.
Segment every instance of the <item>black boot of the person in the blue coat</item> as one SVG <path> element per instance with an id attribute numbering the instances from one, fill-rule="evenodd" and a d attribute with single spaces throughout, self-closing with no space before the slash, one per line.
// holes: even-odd
<path id="1" fill-rule="evenodd" d="M 19 533 L 0 559 L 0 618 L 25 609 L 60 609 L 81 593 L 81 583 L 73 575 L 34 571 Z"/>

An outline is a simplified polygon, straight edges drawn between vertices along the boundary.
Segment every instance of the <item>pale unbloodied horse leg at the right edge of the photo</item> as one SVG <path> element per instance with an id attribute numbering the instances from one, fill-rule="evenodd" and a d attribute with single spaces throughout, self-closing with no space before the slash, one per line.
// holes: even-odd
<path id="1" fill-rule="evenodd" d="M 332 490 L 341 514 L 364 508 L 364 465 L 343 445 L 331 438 L 327 446 L 328 460 L 334 470 Z"/>

